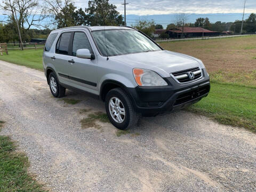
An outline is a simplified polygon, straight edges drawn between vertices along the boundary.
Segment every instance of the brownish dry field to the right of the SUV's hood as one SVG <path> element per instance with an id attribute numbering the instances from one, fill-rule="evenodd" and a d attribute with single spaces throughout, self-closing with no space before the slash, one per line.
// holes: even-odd
<path id="1" fill-rule="evenodd" d="M 256 86 L 256 35 L 161 43 L 170 51 L 201 59 L 211 74 L 220 82 Z"/>

